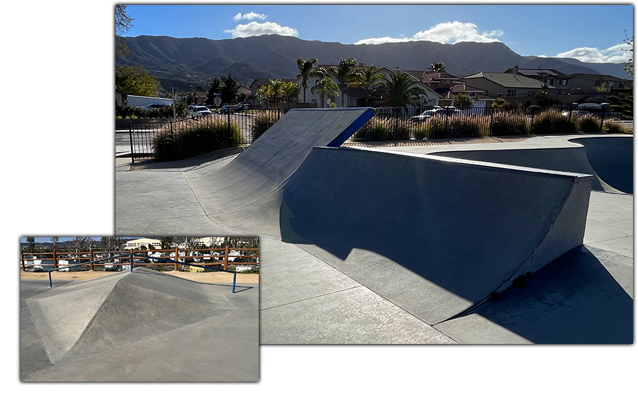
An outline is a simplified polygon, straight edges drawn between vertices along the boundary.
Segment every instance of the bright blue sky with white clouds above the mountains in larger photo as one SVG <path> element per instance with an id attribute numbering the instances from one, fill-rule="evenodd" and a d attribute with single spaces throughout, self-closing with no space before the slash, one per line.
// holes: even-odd
<path id="1" fill-rule="evenodd" d="M 264 33 L 344 44 L 500 41 L 520 55 L 624 62 L 632 5 L 130 5 L 126 35 L 213 40 Z"/>

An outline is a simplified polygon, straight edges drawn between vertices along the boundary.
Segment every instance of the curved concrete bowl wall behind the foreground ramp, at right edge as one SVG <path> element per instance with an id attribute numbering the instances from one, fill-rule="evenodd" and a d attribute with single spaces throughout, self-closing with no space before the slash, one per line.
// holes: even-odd
<path id="1" fill-rule="evenodd" d="M 633 138 L 601 136 L 571 138 L 571 147 L 454 150 L 432 155 L 507 165 L 593 174 L 591 189 L 633 193 Z M 499 147 L 500 148 L 500 147 Z"/>

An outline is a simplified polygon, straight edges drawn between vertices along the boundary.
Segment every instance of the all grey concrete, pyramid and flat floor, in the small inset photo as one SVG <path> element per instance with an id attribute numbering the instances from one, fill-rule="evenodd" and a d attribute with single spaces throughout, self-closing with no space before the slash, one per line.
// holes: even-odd
<path id="1" fill-rule="evenodd" d="M 23 382 L 256 382 L 259 285 L 145 268 L 21 280 Z"/>

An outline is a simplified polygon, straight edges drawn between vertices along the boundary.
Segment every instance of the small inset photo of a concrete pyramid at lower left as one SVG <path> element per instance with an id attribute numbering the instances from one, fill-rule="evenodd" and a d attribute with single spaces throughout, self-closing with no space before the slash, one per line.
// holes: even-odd
<path id="1" fill-rule="evenodd" d="M 20 241 L 22 382 L 259 381 L 259 238 Z"/>

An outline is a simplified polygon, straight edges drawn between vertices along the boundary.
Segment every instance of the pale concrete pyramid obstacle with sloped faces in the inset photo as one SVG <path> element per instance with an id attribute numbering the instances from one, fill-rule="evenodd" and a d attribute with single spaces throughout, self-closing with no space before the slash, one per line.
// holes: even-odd
<path id="1" fill-rule="evenodd" d="M 60 367 L 202 321 L 232 316 L 237 308 L 223 291 L 228 289 L 140 267 L 57 286 L 26 303 L 50 363 Z M 252 321 L 257 336 L 256 307 Z M 192 346 L 206 352 L 205 343 Z M 254 347 L 258 347 L 257 338 Z"/>

